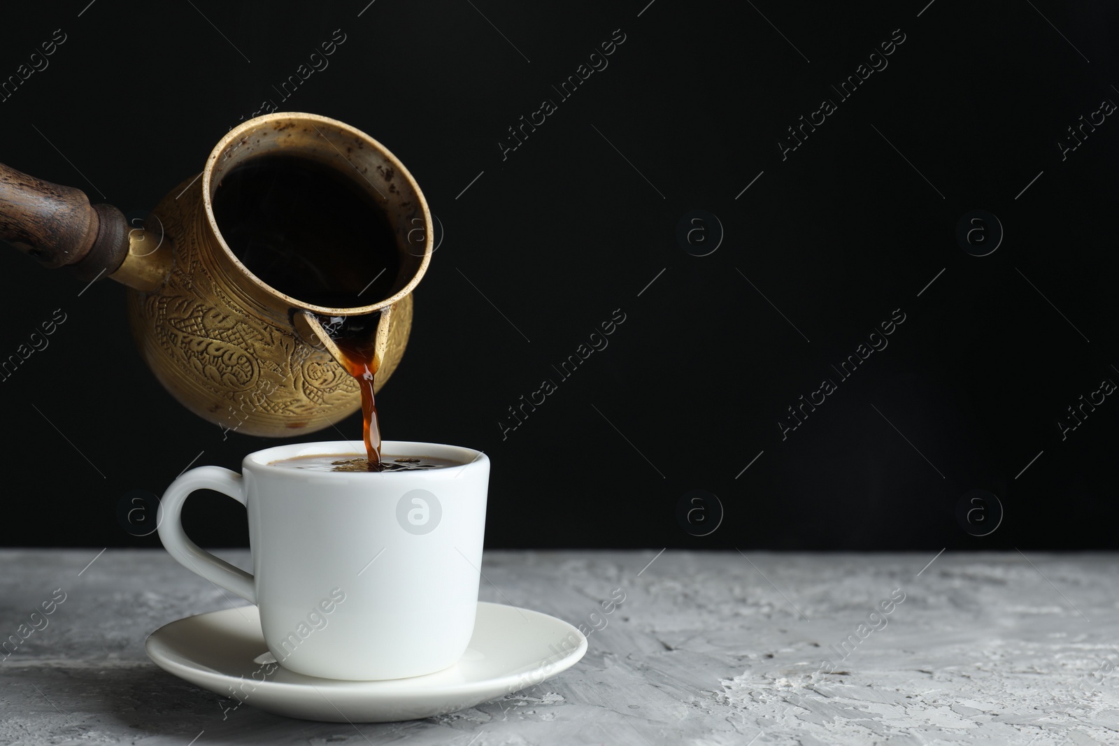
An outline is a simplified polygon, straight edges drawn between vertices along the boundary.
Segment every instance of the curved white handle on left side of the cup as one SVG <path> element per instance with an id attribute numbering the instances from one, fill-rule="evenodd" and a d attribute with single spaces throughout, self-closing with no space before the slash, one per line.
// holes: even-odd
<path id="1" fill-rule="evenodd" d="M 198 466 L 171 482 L 159 502 L 157 526 L 163 548 L 191 573 L 256 603 L 253 576 L 200 548 L 182 530 L 182 503 L 195 490 L 215 490 L 245 504 L 241 474 L 222 466 Z"/>

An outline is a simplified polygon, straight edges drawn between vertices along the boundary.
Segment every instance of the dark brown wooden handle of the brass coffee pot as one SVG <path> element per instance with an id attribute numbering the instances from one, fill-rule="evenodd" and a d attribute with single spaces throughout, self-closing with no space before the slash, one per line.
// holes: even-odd
<path id="1" fill-rule="evenodd" d="M 84 280 L 111 275 L 129 253 L 129 224 L 112 205 L 0 163 L 0 238 Z"/>

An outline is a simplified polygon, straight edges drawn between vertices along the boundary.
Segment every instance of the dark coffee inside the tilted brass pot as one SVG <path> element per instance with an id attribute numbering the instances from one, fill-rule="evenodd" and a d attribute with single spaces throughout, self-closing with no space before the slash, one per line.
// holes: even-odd
<path id="1" fill-rule="evenodd" d="M 281 293 L 328 308 L 370 305 L 392 294 L 399 257 L 360 178 L 297 155 L 262 155 L 222 178 L 214 217 L 241 263 Z"/>

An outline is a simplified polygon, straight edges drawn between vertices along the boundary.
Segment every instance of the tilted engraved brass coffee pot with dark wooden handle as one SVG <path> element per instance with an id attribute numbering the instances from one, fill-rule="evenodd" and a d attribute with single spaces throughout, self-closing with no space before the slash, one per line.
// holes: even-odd
<path id="1" fill-rule="evenodd" d="M 396 239 L 384 257 L 396 276 L 380 298 L 314 305 L 262 282 L 229 248 L 215 191 L 237 166 L 273 154 L 333 169 L 375 199 Z M 224 428 L 276 437 L 321 429 L 360 407 L 329 333 L 349 317 L 379 314 L 365 328 L 375 336 L 377 388 L 384 385 L 404 352 L 411 293 L 433 251 L 427 202 L 404 166 L 364 132 L 302 113 L 231 130 L 201 173 L 168 192 L 142 227 L 111 205 L 91 206 L 78 189 L 0 164 L 0 238 L 46 266 L 126 285 L 133 339 L 175 398 Z"/>

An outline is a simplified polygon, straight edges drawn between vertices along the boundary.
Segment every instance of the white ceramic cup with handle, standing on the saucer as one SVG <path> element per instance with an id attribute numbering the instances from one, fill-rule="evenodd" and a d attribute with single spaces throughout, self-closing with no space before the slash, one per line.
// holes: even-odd
<path id="1" fill-rule="evenodd" d="M 280 445 L 242 473 L 199 466 L 159 507 L 159 538 L 182 566 L 257 605 L 284 668 L 327 679 L 398 679 L 453 665 L 474 629 L 489 459 L 471 448 L 386 441 L 385 459 L 462 465 L 401 472 L 304 471 L 271 462 L 364 456 L 360 441 Z M 244 503 L 253 574 L 200 549 L 182 503 L 209 489 Z"/>

